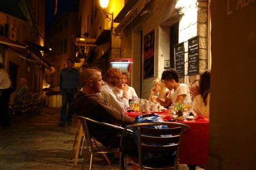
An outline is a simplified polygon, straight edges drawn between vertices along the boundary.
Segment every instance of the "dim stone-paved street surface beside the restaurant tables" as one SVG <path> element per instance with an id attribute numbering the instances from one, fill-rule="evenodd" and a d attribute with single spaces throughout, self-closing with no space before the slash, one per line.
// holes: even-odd
<path id="1" fill-rule="evenodd" d="M 44 107 L 41 114 L 12 115 L 11 128 L 0 129 L 0 169 L 81 169 L 83 156 L 76 167 L 70 159 L 77 118 L 62 127 L 59 117 L 55 107 Z M 119 169 L 114 155 L 109 159 L 111 166 L 101 155 L 95 156 L 92 169 Z M 180 169 L 188 167 L 181 164 Z"/>

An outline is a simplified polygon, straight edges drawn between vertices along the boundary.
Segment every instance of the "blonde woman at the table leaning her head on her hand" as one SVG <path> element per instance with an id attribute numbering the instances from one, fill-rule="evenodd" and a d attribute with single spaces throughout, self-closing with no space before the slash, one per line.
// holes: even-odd
<path id="1" fill-rule="evenodd" d="M 154 94 L 158 92 L 158 95 L 155 96 Z M 156 103 L 156 97 L 159 97 L 160 99 L 165 99 L 168 95 L 168 89 L 166 89 L 164 82 L 161 80 L 161 78 L 156 78 L 153 81 L 153 87 L 150 92 L 149 101 L 152 104 Z"/>

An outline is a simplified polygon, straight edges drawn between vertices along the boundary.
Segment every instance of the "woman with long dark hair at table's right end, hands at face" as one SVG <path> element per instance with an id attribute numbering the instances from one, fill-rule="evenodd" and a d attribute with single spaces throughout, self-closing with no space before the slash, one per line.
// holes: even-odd
<path id="1" fill-rule="evenodd" d="M 202 115 L 209 119 L 210 115 L 210 70 L 200 73 L 199 83 L 193 84 L 189 90 L 194 97 L 194 109 L 196 115 Z"/>

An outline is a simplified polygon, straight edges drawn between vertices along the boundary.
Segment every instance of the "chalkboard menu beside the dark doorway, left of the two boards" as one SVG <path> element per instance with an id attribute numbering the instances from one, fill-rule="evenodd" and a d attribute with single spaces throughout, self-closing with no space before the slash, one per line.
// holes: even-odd
<path id="1" fill-rule="evenodd" d="M 174 45 L 175 69 L 184 77 L 184 43 Z"/>

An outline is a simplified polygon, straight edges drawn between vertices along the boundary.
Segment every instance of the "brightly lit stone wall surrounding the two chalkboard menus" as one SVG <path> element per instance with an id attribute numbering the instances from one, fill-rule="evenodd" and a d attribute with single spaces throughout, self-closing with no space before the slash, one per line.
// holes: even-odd
<path id="1" fill-rule="evenodd" d="M 188 74 L 188 39 L 199 35 L 199 73 L 208 69 L 208 1 L 180 0 L 175 8 L 179 10 L 179 43 L 185 47 L 185 75 Z M 193 84 L 199 75 L 184 76 L 180 81 Z"/>

